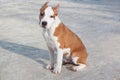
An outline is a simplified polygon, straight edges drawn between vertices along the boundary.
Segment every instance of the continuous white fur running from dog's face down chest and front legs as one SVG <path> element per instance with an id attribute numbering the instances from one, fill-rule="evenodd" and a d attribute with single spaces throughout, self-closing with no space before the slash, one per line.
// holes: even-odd
<path id="1" fill-rule="evenodd" d="M 47 43 L 48 49 L 50 51 L 50 56 L 51 56 L 51 64 L 48 65 L 46 68 L 51 69 L 54 66 L 54 73 L 60 73 L 61 72 L 61 67 L 62 67 L 62 60 L 63 60 L 63 50 L 60 49 L 60 44 L 58 42 L 57 36 L 54 36 L 55 29 L 58 27 L 58 25 L 61 23 L 60 19 L 58 16 L 55 17 L 55 19 L 50 18 L 51 15 L 54 15 L 53 10 L 51 7 L 48 7 L 45 10 L 45 16 L 41 20 L 42 21 L 47 21 L 47 26 L 43 30 L 43 36 L 45 38 L 45 41 Z M 57 58 L 54 58 L 54 53 L 57 53 Z M 54 61 L 54 59 L 56 59 Z M 56 63 L 55 63 L 56 62 Z"/>

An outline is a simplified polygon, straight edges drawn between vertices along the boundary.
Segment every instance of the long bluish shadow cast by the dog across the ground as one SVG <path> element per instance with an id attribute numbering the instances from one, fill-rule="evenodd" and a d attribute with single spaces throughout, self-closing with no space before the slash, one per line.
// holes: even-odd
<path id="1" fill-rule="evenodd" d="M 47 50 L 43 50 L 43 49 L 31 47 L 31 46 L 26 46 L 26 45 L 22 45 L 22 44 L 17 44 L 17 43 L 0 40 L 0 47 L 3 49 L 6 49 L 8 51 L 11 51 L 13 53 L 31 58 L 34 61 L 42 64 L 43 67 L 46 65 L 44 60 L 49 59 L 49 54 L 48 54 Z"/>

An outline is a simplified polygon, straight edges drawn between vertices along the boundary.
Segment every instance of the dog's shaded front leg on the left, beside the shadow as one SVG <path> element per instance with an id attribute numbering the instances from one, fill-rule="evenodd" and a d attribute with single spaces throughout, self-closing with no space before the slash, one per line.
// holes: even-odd
<path id="1" fill-rule="evenodd" d="M 54 68 L 54 50 L 48 46 L 49 52 L 50 52 L 50 64 L 46 66 L 47 69 L 53 69 Z"/>

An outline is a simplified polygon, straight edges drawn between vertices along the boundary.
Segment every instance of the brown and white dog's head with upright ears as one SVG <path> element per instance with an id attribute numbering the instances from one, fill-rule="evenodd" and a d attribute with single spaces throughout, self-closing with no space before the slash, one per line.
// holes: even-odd
<path id="1" fill-rule="evenodd" d="M 58 16 L 59 4 L 55 7 L 49 7 L 46 2 L 40 9 L 39 24 L 45 29 L 49 29 Z"/>

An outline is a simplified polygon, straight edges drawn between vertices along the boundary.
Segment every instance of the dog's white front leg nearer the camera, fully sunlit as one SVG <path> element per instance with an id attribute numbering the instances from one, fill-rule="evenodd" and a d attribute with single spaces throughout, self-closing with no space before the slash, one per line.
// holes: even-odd
<path id="1" fill-rule="evenodd" d="M 61 49 L 57 50 L 57 56 L 56 56 L 56 64 L 54 66 L 54 70 L 53 72 L 55 74 L 58 74 L 61 72 L 61 68 L 62 68 L 62 61 L 63 61 L 63 51 Z"/>

